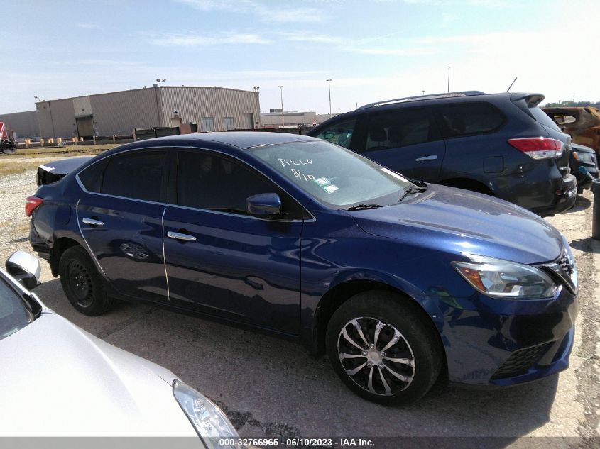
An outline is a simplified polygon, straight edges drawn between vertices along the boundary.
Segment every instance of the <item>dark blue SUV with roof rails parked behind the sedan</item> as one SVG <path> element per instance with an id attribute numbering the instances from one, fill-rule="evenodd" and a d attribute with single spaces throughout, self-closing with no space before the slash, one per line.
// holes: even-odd
<path id="1" fill-rule="evenodd" d="M 412 179 L 460 187 L 541 216 L 571 209 L 571 138 L 541 110 L 541 94 L 454 92 L 367 104 L 308 135 Z"/>

